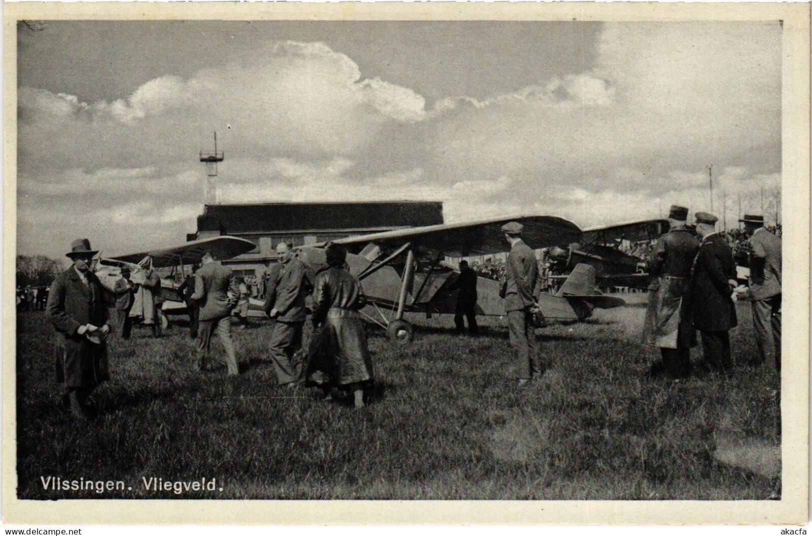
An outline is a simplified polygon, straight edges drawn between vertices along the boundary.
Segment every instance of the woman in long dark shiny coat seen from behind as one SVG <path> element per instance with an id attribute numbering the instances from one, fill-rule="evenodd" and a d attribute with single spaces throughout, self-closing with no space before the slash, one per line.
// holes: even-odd
<path id="1" fill-rule="evenodd" d="M 305 382 L 353 391 L 356 408 L 364 406 L 364 391 L 372 386 L 373 370 L 364 321 L 361 283 L 346 269 L 347 250 L 326 247 L 327 265 L 316 276 L 313 290 L 313 338 L 308 349 Z"/>

